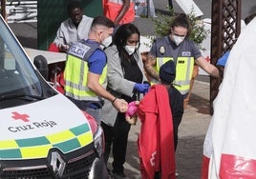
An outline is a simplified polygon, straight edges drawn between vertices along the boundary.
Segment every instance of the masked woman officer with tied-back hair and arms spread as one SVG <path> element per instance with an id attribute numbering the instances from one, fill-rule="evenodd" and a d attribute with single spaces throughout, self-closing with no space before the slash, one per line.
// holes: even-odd
<path id="1" fill-rule="evenodd" d="M 189 37 L 188 17 L 181 13 L 174 19 L 169 34 L 158 38 L 152 46 L 145 62 L 145 70 L 153 83 L 160 82 L 160 66 L 169 60 L 176 64 L 176 78 L 173 82 L 184 99 L 190 89 L 194 63 L 214 77 L 219 77 L 219 70 L 208 63 L 201 51 Z M 184 103 L 186 104 L 186 103 Z"/>

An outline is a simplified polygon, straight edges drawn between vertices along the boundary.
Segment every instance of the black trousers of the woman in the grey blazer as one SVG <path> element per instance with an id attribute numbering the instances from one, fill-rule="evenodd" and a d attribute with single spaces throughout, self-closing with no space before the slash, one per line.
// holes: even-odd
<path id="1" fill-rule="evenodd" d="M 117 113 L 117 120 L 114 127 L 110 127 L 103 122 L 101 122 L 101 127 L 104 130 L 105 135 L 104 160 L 107 163 L 112 146 L 114 158 L 112 163 L 113 172 L 122 173 L 131 125 L 126 122 L 124 113 Z"/>

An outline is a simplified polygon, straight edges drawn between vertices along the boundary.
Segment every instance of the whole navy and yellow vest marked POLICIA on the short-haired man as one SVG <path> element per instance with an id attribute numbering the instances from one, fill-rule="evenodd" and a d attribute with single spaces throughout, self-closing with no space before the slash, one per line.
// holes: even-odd
<path id="1" fill-rule="evenodd" d="M 64 70 L 65 95 L 76 100 L 101 101 L 102 99 L 87 86 L 87 74 L 89 71 L 88 60 L 95 50 L 101 50 L 96 43 L 77 42 L 67 54 Z M 99 78 L 99 84 L 105 83 L 107 66 L 104 67 Z"/>

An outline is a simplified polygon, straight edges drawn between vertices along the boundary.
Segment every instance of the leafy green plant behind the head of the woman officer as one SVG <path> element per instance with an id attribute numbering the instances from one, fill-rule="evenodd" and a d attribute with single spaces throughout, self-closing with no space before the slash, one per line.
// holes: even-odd
<path id="1" fill-rule="evenodd" d="M 169 33 L 171 24 L 175 18 L 176 13 L 174 12 L 174 10 L 169 9 L 168 7 L 167 10 L 168 14 L 158 14 L 159 18 L 151 18 L 157 36 L 167 35 Z M 199 49 L 205 50 L 201 44 L 210 33 L 210 31 L 205 30 L 203 22 L 198 17 L 196 17 L 195 11 L 193 9 L 188 14 L 188 18 L 191 25 L 191 33 L 189 35 L 189 38 L 197 44 Z"/>

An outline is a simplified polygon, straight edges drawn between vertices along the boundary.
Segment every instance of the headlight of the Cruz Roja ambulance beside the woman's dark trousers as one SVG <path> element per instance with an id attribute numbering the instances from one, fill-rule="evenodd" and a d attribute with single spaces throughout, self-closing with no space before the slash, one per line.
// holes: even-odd
<path id="1" fill-rule="evenodd" d="M 98 156 L 102 156 L 104 153 L 104 132 L 103 129 L 100 127 L 97 128 L 96 133 L 94 134 L 94 139 L 95 139 L 95 149 L 98 154 Z"/>

